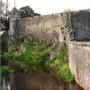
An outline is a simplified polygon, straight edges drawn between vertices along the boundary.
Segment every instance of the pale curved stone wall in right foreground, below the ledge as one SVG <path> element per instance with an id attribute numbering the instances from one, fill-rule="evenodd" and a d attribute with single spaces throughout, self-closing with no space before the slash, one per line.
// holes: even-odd
<path id="1" fill-rule="evenodd" d="M 69 42 L 69 67 L 77 83 L 90 90 L 90 42 Z"/>

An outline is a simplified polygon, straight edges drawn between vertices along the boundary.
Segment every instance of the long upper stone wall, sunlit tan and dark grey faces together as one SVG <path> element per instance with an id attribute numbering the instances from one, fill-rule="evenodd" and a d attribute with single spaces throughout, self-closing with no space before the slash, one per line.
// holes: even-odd
<path id="1" fill-rule="evenodd" d="M 81 10 L 17 19 L 16 28 L 17 32 L 27 33 L 29 37 L 44 42 L 62 42 L 66 31 L 74 40 L 89 41 L 90 12 Z"/>

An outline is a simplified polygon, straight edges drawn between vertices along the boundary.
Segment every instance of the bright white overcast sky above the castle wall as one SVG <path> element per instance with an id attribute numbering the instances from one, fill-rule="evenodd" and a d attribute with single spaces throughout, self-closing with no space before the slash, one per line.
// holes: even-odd
<path id="1" fill-rule="evenodd" d="M 90 0 L 15 0 L 17 9 L 26 5 L 29 5 L 36 13 L 47 15 L 60 13 L 66 9 L 88 9 Z M 14 7 L 14 0 L 8 0 L 8 6 L 11 10 Z"/>

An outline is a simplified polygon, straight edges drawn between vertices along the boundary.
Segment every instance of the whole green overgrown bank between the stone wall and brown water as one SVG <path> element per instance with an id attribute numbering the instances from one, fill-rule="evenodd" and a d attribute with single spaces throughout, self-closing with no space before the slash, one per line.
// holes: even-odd
<path id="1" fill-rule="evenodd" d="M 23 37 L 16 39 L 7 53 L 2 57 L 8 61 L 16 72 L 47 71 L 62 77 L 65 81 L 73 82 L 74 77 L 69 71 L 67 48 L 63 46 L 60 53 L 50 59 L 51 51 L 57 44 L 46 45 L 39 42 L 30 42 Z"/>

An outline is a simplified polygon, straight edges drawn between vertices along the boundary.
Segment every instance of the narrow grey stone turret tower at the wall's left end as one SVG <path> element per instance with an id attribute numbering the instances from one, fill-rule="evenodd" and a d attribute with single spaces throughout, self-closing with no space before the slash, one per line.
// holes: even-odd
<path id="1" fill-rule="evenodd" d="M 12 11 L 9 14 L 9 19 L 10 19 L 10 29 L 9 29 L 9 36 L 13 36 L 15 31 L 17 30 L 16 28 L 16 21 L 17 19 L 20 18 L 20 13 L 19 11 L 16 9 L 16 7 L 14 7 L 12 9 Z"/>

